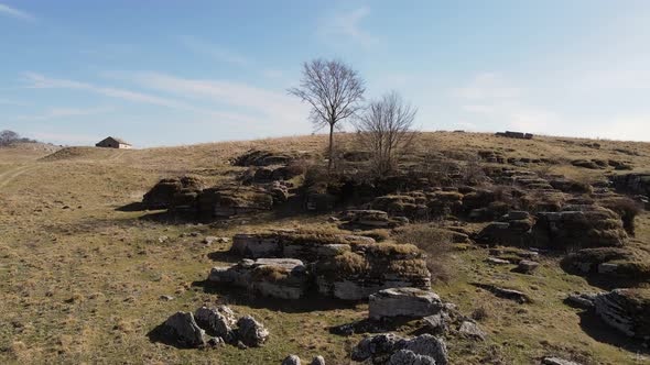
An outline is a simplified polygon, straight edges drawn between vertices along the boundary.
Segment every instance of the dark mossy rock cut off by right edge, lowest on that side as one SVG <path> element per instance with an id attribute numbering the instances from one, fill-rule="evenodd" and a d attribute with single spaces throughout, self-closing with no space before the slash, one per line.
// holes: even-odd
<path id="1" fill-rule="evenodd" d="M 630 338 L 650 340 L 650 289 L 615 289 L 594 299 L 605 323 Z"/>

